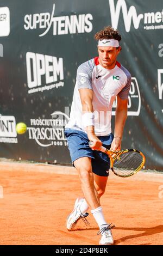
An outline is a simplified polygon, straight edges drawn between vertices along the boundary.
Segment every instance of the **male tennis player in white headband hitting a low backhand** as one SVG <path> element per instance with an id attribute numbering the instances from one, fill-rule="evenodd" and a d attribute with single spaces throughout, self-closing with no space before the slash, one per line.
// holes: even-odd
<path id="1" fill-rule="evenodd" d="M 66 227 L 71 231 L 80 219 L 86 221 L 86 211 L 90 208 L 99 226 L 99 244 L 112 245 L 111 228 L 114 226 L 105 220 L 99 200 L 105 192 L 110 163 L 109 157 L 98 148 L 103 144 L 113 151 L 121 149 L 131 75 L 116 61 L 121 51 L 118 31 L 105 27 L 96 33 L 95 39 L 98 40 L 98 57 L 78 67 L 70 120 L 65 128 L 72 163 L 78 170 L 84 194 L 84 198 L 76 199 Z M 111 108 L 116 96 L 112 135 Z"/>

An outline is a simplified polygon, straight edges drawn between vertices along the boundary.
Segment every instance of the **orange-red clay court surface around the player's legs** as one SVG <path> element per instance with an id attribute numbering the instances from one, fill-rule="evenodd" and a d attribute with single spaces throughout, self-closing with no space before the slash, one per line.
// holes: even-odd
<path id="1" fill-rule="evenodd" d="M 0 245 L 98 245 L 98 227 L 91 213 L 87 218 L 90 227 L 82 220 L 74 231 L 65 227 L 74 200 L 82 196 L 78 176 L 48 173 L 57 168 L 53 166 L 39 168 L 0 163 L 4 192 Z M 62 169 L 65 167 L 58 167 L 59 172 Z M 67 168 L 70 170 L 74 173 L 74 168 Z M 101 205 L 108 223 L 116 226 L 112 231 L 115 245 L 162 245 L 162 178 L 161 174 L 144 173 L 126 179 L 110 175 Z"/>

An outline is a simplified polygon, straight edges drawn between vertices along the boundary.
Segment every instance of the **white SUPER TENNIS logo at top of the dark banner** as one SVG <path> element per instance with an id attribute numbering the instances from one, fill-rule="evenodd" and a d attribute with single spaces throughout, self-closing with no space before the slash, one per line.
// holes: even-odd
<path id="1" fill-rule="evenodd" d="M 77 33 L 90 33 L 92 31 L 93 17 L 91 14 L 79 14 L 70 16 L 55 17 L 55 4 L 52 14 L 36 13 L 24 16 L 24 29 L 44 29 L 39 36 L 44 36 L 53 27 L 53 35 L 66 35 Z"/>

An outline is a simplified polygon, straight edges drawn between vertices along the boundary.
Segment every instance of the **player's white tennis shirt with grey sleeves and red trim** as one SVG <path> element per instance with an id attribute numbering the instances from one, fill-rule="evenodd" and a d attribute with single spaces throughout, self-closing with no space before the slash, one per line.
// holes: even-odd
<path id="1" fill-rule="evenodd" d="M 119 95 L 128 99 L 131 84 L 129 71 L 116 62 L 114 69 L 105 69 L 98 62 L 98 57 L 81 64 L 77 70 L 77 80 L 74 87 L 70 120 L 65 128 L 82 130 L 82 102 L 79 89 L 88 88 L 93 91 L 93 110 L 95 113 L 95 134 L 106 136 L 111 132 L 112 103 Z"/>

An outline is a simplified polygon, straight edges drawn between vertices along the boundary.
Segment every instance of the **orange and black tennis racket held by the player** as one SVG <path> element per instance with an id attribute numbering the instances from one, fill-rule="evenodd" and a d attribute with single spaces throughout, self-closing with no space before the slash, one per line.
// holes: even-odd
<path id="1" fill-rule="evenodd" d="M 115 175 L 122 178 L 127 178 L 139 172 L 146 161 L 145 155 L 137 149 L 110 151 L 101 146 L 98 150 L 109 156 L 110 169 Z M 114 156 L 112 157 L 112 155 Z"/>

